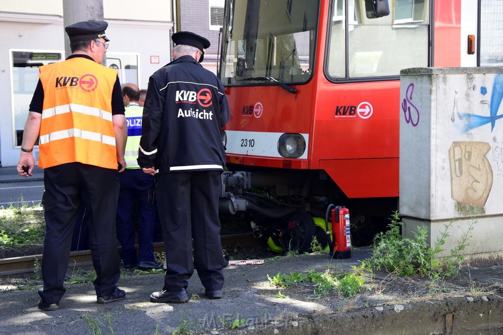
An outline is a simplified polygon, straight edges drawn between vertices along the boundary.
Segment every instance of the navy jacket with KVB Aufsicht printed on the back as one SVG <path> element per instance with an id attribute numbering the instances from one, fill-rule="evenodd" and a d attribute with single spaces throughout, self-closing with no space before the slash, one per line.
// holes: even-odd
<path id="1" fill-rule="evenodd" d="M 229 119 L 220 79 L 193 57 L 179 57 L 149 78 L 138 164 L 158 173 L 223 170 L 220 131 Z"/>

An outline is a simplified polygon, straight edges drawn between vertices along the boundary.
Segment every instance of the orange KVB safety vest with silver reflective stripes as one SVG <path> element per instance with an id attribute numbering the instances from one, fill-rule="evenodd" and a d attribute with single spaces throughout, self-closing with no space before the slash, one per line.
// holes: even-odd
<path id="1" fill-rule="evenodd" d="M 40 67 L 44 104 L 38 165 L 117 169 L 112 91 L 117 71 L 75 57 Z"/>

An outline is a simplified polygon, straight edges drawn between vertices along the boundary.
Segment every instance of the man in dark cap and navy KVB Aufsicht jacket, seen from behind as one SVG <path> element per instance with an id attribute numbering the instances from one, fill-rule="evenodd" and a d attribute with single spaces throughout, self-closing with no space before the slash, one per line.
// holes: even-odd
<path id="1" fill-rule="evenodd" d="M 210 42 L 191 32 L 175 33 L 172 40 L 175 60 L 149 78 L 138 154 L 143 171 L 155 172 L 166 246 L 164 286 L 150 301 L 188 301 L 194 265 L 205 294 L 219 299 L 224 258 L 218 198 L 225 165 L 220 131 L 230 112 L 221 81 L 199 63 Z"/>

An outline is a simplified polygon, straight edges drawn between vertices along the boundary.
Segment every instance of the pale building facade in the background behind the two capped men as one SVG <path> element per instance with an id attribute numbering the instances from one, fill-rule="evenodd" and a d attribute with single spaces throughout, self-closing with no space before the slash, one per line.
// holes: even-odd
<path id="1" fill-rule="evenodd" d="M 147 88 L 148 77 L 171 60 L 173 1 L 103 0 L 108 22 L 106 65 L 121 83 Z M 65 59 L 63 1 L 0 2 L 0 164 L 15 166 L 38 67 Z M 67 56 L 67 55 L 66 55 Z M 38 147 L 34 149 L 38 160 Z"/>

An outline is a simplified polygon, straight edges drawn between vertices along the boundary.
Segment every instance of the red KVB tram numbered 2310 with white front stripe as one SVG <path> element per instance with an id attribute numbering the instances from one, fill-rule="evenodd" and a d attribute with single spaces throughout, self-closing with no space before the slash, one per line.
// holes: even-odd
<path id="1" fill-rule="evenodd" d="M 485 25 L 503 21 L 498 3 L 225 0 L 221 209 L 306 251 L 327 205 L 345 205 L 371 241 L 398 208 L 400 70 L 501 65 L 503 28 Z"/>

